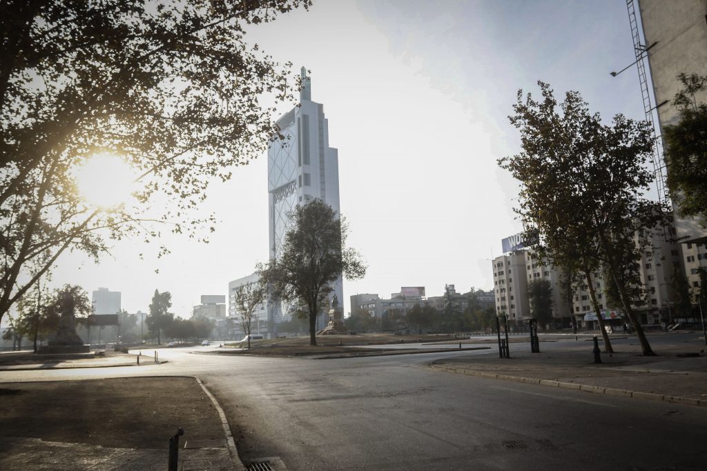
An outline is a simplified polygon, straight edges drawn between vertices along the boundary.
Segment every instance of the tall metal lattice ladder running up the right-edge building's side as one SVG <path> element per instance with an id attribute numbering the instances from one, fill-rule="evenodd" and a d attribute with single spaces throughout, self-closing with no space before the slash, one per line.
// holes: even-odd
<path id="1" fill-rule="evenodd" d="M 643 112 L 645 113 L 645 121 L 648 121 L 653 129 L 653 176 L 655 178 L 655 188 L 658 191 L 658 198 L 661 203 L 670 205 L 670 192 L 667 189 L 665 178 L 667 177 L 665 159 L 663 158 L 662 138 L 656 131 L 655 119 L 653 112 L 660 105 L 653 106 L 651 100 L 650 89 L 648 88 L 648 76 L 645 73 L 645 60 L 648 59 L 648 46 L 641 42 L 641 32 L 638 29 L 638 16 L 636 13 L 636 2 L 634 0 L 626 0 L 626 8 L 629 11 L 629 23 L 631 24 L 631 36 L 633 37 L 633 50 L 636 52 L 636 66 L 638 67 L 638 81 L 641 82 L 641 96 L 643 97 Z"/>

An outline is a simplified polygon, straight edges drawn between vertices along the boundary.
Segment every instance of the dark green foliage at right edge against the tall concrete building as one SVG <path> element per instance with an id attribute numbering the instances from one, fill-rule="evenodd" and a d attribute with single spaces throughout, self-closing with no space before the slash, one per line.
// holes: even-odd
<path id="1" fill-rule="evenodd" d="M 695 94 L 707 92 L 707 76 L 678 76 L 683 88 L 673 100 L 679 122 L 665 126 L 667 186 L 681 216 L 698 217 L 707 227 L 707 104 Z"/>

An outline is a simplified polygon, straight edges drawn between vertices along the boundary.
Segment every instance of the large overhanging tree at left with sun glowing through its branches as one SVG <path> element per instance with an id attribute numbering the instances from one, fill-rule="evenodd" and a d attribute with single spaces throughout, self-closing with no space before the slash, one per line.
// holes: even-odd
<path id="1" fill-rule="evenodd" d="M 0 2 L 0 319 L 66 250 L 98 259 L 129 234 L 214 221 L 198 214 L 209 182 L 278 133 L 262 95 L 296 89 L 246 29 L 310 3 Z M 77 169 L 100 153 L 138 176 L 129 203 L 82 198 Z"/>

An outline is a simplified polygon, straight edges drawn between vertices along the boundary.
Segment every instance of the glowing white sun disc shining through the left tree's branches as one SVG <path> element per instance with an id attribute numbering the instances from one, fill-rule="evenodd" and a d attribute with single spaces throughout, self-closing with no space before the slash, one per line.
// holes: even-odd
<path id="1" fill-rule="evenodd" d="M 74 179 L 86 203 L 110 210 L 126 203 L 136 189 L 134 169 L 117 155 L 95 154 L 76 167 Z"/>

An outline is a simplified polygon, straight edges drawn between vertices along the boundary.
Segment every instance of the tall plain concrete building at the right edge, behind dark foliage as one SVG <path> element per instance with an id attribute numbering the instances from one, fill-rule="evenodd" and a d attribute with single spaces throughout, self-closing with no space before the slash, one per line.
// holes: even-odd
<path id="1" fill-rule="evenodd" d="M 629 19 L 631 19 L 629 2 Z M 654 102 L 657 106 L 658 132 L 669 124 L 677 124 L 679 112 L 672 105 L 675 94 L 682 88 L 679 73 L 696 73 L 707 76 L 707 0 L 640 0 L 638 1 L 643 41 L 648 46 L 648 73 L 653 84 Z M 634 8 L 635 9 L 635 8 Z M 634 13 L 635 16 L 635 13 Z M 633 27 L 633 24 L 632 24 Z M 638 32 L 634 33 L 634 43 Z M 639 71 L 642 64 L 639 65 Z M 643 89 L 643 81 L 641 81 Z M 642 90 L 643 91 L 643 90 Z M 646 93 L 643 93 L 644 102 Z M 698 102 L 707 102 L 707 92 L 696 95 Z M 653 116 L 653 112 L 651 112 Z M 670 172 L 670 169 L 667 169 Z M 674 204 L 677 241 L 681 244 L 682 263 L 693 295 L 699 293 L 698 268 L 707 268 L 705 244 L 707 229 L 699 220 L 682 217 L 679 205 Z M 694 299 L 694 298 L 693 298 Z M 694 301 L 696 302 L 696 301 Z"/>

